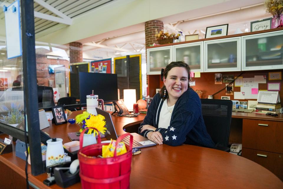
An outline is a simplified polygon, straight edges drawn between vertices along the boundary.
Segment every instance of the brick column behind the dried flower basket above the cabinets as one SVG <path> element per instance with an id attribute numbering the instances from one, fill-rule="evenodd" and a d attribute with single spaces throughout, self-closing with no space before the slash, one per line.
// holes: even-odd
<path id="1" fill-rule="evenodd" d="M 157 44 L 155 39 L 155 30 L 158 32 L 164 29 L 163 22 L 159 20 L 150 20 L 145 22 L 145 44 L 146 46 L 152 45 L 153 43 Z"/>

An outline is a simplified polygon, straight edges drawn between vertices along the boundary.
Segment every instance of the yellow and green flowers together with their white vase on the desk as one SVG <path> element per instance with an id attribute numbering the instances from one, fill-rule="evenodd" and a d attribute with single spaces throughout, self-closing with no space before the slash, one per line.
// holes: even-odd
<path id="1" fill-rule="evenodd" d="M 88 146 L 91 144 L 96 144 L 96 134 L 98 135 L 99 133 L 92 129 L 91 127 L 96 128 L 99 132 L 105 133 L 107 128 L 105 127 L 105 117 L 103 115 L 92 115 L 88 113 L 87 111 L 83 112 L 82 114 L 79 114 L 76 116 L 76 123 L 77 124 L 82 124 L 80 125 L 80 132 L 82 132 L 85 128 L 89 128 L 88 130 L 85 131 L 85 133 L 81 133 L 84 136 L 83 139 L 83 146 Z"/>

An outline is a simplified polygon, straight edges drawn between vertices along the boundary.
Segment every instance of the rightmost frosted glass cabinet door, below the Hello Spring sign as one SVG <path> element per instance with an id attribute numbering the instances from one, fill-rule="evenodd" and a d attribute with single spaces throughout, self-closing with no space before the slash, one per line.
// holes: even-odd
<path id="1" fill-rule="evenodd" d="M 242 70 L 283 69 L 283 31 L 242 37 Z"/>

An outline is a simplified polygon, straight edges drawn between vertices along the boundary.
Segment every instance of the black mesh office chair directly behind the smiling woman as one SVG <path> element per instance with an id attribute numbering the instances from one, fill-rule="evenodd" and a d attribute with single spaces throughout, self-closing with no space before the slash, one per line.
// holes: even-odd
<path id="1" fill-rule="evenodd" d="M 228 142 L 233 102 L 217 99 L 200 100 L 205 126 L 216 144 L 215 149 L 230 152 Z"/>

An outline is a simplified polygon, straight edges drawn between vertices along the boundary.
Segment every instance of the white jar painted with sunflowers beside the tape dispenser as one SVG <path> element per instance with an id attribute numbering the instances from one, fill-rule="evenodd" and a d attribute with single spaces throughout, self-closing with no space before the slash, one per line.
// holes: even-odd
<path id="1" fill-rule="evenodd" d="M 53 164 L 65 162 L 65 154 L 62 141 L 63 140 L 59 138 L 48 139 L 46 141 L 46 167 Z"/>

